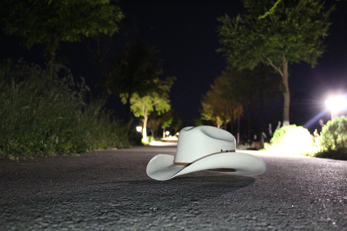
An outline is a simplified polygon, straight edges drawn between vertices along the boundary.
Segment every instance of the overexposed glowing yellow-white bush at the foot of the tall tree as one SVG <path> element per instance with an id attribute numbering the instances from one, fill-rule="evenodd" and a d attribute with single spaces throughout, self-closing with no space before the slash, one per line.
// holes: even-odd
<path id="1" fill-rule="evenodd" d="M 265 150 L 279 153 L 312 155 L 315 152 L 313 137 L 302 127 L 287 125 L 273 133 L 270 144 L 264 144 Z"/>

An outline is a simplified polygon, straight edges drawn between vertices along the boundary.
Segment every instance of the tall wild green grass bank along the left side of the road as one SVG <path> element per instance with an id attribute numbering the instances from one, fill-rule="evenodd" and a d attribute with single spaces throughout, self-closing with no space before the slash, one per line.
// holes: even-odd
<path id="1" fill-rule="evenodd" d="M 59 64 L 0 64 L 0 158 L 128 147 L 127 127 L 111 122 L 104 100 L 86 104 L 89 91 Z"/>

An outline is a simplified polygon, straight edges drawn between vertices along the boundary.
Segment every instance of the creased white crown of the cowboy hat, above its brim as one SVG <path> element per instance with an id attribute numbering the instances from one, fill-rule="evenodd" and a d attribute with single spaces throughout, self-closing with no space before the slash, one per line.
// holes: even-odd
<path id="1" fill-rule="evenodd" d="M 185 127 L 178 135 L 175 162 L 191 163 L 214 152 L 235 150 L 234 136 L 217 127 Z"/>

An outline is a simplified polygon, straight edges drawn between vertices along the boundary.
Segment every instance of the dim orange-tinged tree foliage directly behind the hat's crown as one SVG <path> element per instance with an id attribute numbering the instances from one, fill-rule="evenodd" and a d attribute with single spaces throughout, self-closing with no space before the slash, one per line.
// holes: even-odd
<path id="1" fill-rule="evenodd" d="M 227 66 L 225 71 L 214 80 L 211 90 L 202 100 L 201 118 L 213 121 L 215 125 L 234 122 L 243 111 L 262 112 L 264 102 L 277 98 L 280 94 L 281 79 L 273 74 L 272 69 L 258 65 L 255 69 L 238 71 Z"/>

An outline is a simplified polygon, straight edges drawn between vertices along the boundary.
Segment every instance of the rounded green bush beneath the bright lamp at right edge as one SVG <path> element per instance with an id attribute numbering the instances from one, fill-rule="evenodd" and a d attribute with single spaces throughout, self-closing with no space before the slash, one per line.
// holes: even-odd
<path id="1" fill-rule="evenodd" d="M 347 160 L 347 117 L 340 116 L 322 127 L 316 157 Z"/>

